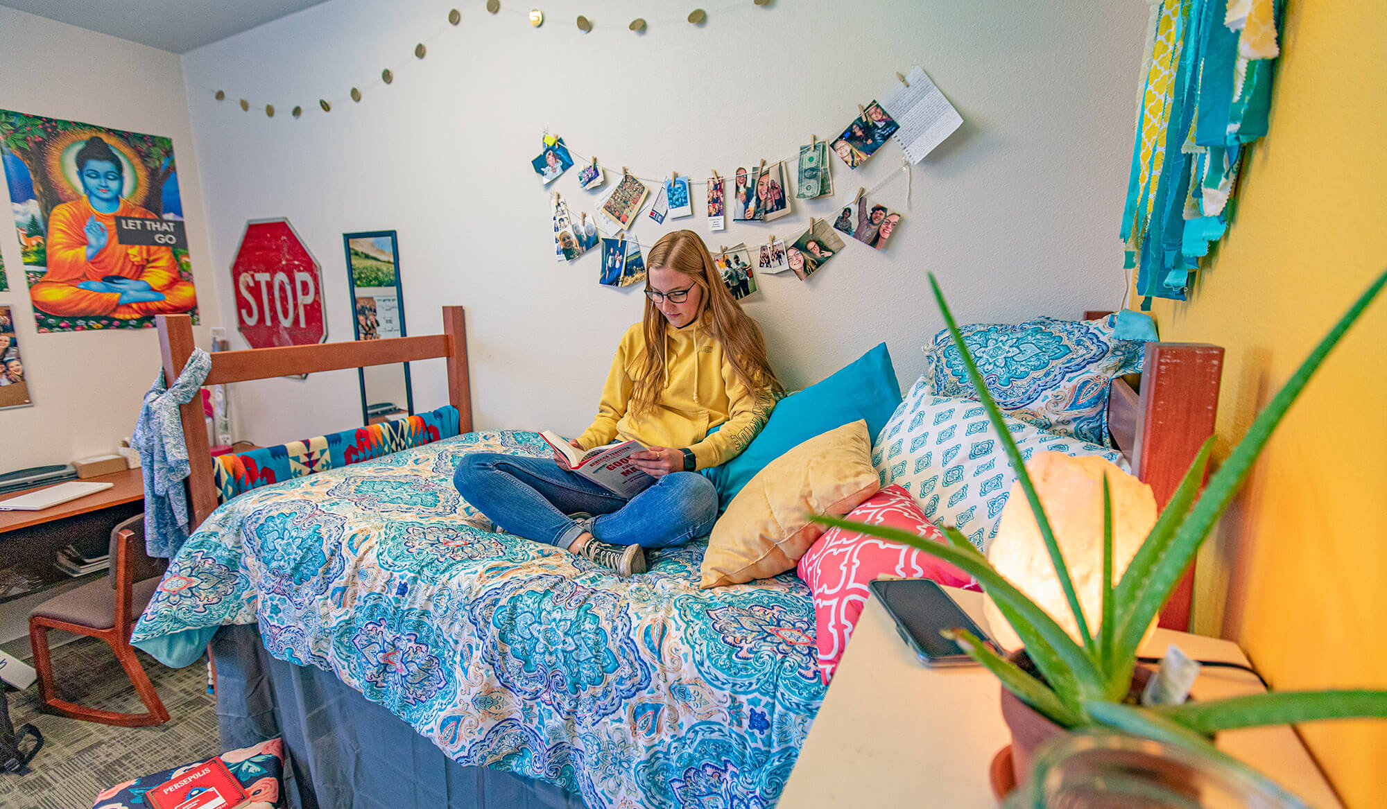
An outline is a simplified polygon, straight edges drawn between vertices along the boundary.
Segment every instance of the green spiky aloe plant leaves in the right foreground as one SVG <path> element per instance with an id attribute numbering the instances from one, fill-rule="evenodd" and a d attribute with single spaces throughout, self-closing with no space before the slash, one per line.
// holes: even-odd
<path id="1" fill-rule="evenodd" d="M 1097 632 L 1090 629 L 1087 616 L 1083 615 L 1083 608 L 1079 605 L 1064 554 L 1056 543 L 1044 506 L 1026 474 L 1011 431 L 1003 424 L 1001 411 L 989 395 L 988 386 L 978 373 L 978 366 L 968 353 L 968 346 L 964 345 L 958 324 L 954 321 L 933 274 L 929 276 L 929 283 L 945 323 L 949 326 L 953 344 L 967 366 L 974 391 L 988 410 L 988 417 L 1001 439 L 1011 467 L 1017 472 L 1021 490 L 1025 493 L 1040 528 L 1040 536 L 1054 564 L 1069 610 L 1074 612 L 1082 643 L 1071 639 L 1054 618 L 993 569 L 986 557 L 954 528 L 942 529 L 949 543 L 940 544 L 907 531 L 879 525 L 816 517 L 818 522 L 917 547 L 975 576 L 1007 622 L 1015 629 L 1017 636 L 1025 644 L 1026 655 L 1044 682 L 997 655 L 965 630 L 953 629 L 945 634 L 956 640 L 970 657 L 996 675 L 1013 694 L 1064 727 L 1110 726 L 1139 736 L 1186 744 L 1211 756 L 1232 762 L 1209 743 L 1214 733 L 1236 727 L 1300 723 L 1316 719 L 1387 718 L 1387 691 L 1365 690 L 1269 693 L 1157 708 L 1142 708 L 1122 702 L 1132 682 L 1137 646 L 1142 643 L 1146 629 L 1155 619 L 1190 560 L 1194 558 L 1209 531 L 1241 488 L 1272 431 L 1329 352 L 1387 284 L 1387 272 L 1377 276 L 1329 334 L 1320 339 L 1300 368 L 1287 380 L 1286 386 L 1257 416 L 1247 435 L 1208 478 L 1208 485 L 1200 493 L 1200 483 L 1204 481 L 1214 439 L 1209 438 L 1204 443 L 1171 501 L 1128 564 L 1126 572 L 1115 585 L 1112 582 L 1112 503 L 1108 482 L 1104 479 L 1103 615 Z"/>

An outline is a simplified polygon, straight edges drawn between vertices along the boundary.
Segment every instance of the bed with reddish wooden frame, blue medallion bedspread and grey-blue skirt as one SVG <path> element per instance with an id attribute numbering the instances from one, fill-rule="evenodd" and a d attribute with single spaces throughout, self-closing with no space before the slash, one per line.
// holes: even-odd
<path id="1" fill-rule="evenodd" d="M 184 407 L 198 529 L 135 643 L 173 659 L 211 641 L 223 744 L 283 734 L 297 805 L 773 806 L 825 690 L 804 585 L 699 590 L 700 542 L 619 579 L 492 532 L 452 488 L 456 460 L 549 450 L 472 431 L 462 309 L 444 324 L 214 355 L 207 385 L 442 356 L 458 434 L 216 507 Z M 158 328 L 173 378 L 191 327 Z M 1212 432 L 1219 362 L 1151 344 L 1140 392 L 1114 385 L 1114 439 L 1161 503 Z"/>

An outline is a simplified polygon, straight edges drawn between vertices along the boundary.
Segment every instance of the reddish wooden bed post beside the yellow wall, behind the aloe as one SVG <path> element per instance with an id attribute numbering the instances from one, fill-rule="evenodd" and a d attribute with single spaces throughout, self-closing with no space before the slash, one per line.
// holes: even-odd
<path id="1" fill-rule="evenodd" d="M 1223 349 L 1204 344 L 1148 342 L 1142 373 L 1132 474 L 1146 481 L 1165 508 L 1200 446 L 1214 435 Z M 1147 446 L 1148 435 L 1161 436 Z M 1161 610 L 1161 626 L 1189 630 L 1194 562 Z"/>

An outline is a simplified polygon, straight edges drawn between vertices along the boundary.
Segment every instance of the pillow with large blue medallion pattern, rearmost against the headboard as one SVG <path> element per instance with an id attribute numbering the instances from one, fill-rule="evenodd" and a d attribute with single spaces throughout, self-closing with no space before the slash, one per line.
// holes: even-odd
<path id="1" fill-rule="evenodd" d="M 1155 339 L 1150 316 L 1125 312 L 1123 334 Z M 1136 323 L 1142 320 L 1142 323 Z M 1015 326 L 964 326 L 964 344 L 997 406 L 1058 435 L 1112 446 L 1108 386 L 1114 377 L 1142 370 L 1146 339 L 1119 339 L 1118 314 L 1103 320 L 1037 317 Z M 975 398 L 963 357 L 949 331 L 925 345 L 925 380 L 935 396 Z"/>

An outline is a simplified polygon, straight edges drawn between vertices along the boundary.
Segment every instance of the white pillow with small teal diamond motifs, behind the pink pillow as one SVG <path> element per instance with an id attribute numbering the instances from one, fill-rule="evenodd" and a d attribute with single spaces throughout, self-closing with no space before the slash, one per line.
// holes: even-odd
<path id="1" fill-rule="evenodd" d="M 1123 470 L 1122 453 L 1003 417 L 1021 457 L 1037 452 L 1103 456 Z M 938 525 L 953 525 L 986 550 L 997 533 L 1017 475 L 982 404 L 961 396 L 932 396 L 921 377 L 872 445 L 881 485 L 899 485 Z"/>

